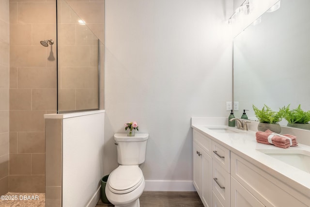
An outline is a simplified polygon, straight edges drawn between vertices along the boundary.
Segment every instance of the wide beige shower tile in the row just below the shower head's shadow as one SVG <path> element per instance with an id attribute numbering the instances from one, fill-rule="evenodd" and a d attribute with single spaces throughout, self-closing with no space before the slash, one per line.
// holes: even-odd
<path id="1" fill-rule="evenodd" d="M 18 68 L 18 88 L 57 88 L 56 68 Z"/>

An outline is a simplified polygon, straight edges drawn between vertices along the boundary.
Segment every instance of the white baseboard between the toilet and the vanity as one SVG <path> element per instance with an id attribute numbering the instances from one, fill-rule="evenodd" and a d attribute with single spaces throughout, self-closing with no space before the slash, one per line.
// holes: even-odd
<path id="1" fill-rule="evenodd" d="M 144 191 L 196 191 L 192 180 L 145 180 Z"/>

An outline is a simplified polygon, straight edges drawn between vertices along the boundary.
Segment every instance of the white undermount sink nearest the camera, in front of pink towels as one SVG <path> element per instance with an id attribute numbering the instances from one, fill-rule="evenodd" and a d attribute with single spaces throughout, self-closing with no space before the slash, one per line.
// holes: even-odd
<path id="1" fill-rule="evenodd" d="M 258 151 L 310 173 L 310 151 L 303 149 L 258 149 Z"/>

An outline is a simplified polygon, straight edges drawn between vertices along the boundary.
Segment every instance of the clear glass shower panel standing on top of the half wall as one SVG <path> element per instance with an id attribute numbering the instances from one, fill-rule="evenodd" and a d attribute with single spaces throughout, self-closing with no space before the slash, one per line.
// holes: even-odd
<path id="1" fill-rule="evenodd" d="M 58 113 L 99 109 L 100 41 L 64 0 L 57 1 Z"/>

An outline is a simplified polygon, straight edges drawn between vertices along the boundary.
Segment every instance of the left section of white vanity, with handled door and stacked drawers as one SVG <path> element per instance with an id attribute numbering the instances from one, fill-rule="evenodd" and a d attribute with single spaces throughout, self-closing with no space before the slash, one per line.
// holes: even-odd
<path id="1" fill-rule="evenodd" d="M 193 184 L 205 207 L 230 206 L 230 151 L 193 131 Z"/>

